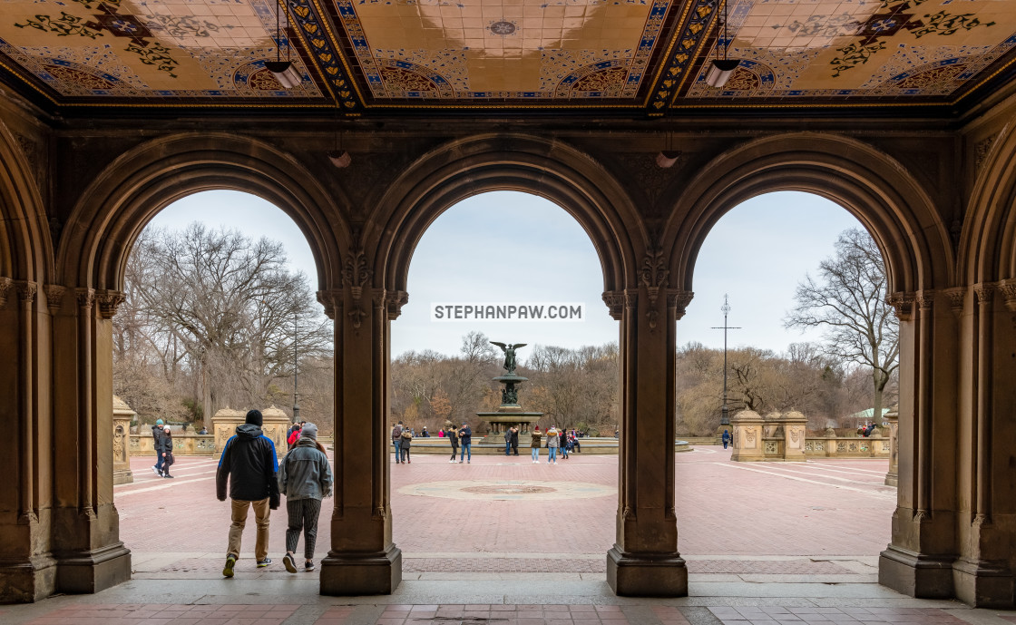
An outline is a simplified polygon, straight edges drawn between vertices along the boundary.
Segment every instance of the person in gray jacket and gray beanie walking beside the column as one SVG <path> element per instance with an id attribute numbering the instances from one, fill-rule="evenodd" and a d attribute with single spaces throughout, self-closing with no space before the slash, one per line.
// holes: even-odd
<path id="1" fill-rule="evenodd" d="M 304 570 L 314 570 L 314 544 L 321 515 L 321 499 L 331 496 L 331 465 L 317 442 L 317 426 L 305 424 L 300 440 L 278 463 L 278 490 L 285 495 L 285 511 L 290 517 L 282 564 L 291 573 L 297 572 L 294 552 L 297 551 L 301 530 L 304 533 Z"/>

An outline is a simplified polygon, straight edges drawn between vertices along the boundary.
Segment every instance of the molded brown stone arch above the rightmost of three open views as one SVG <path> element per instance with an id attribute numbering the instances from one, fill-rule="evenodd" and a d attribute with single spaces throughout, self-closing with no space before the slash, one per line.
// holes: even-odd
<path id="1" fill-rule="evenodd" d="M 949 286 L 954 267 L 949 234 L 919 184 L 873 146 L 819 133 L 751 141 L 702 168 L 662 237 L 676 284 L 692 290 L 698 252 L 723 214 L 771 191 L 814 193 L 858 217 L 882 250 L 890 293 Z"/>

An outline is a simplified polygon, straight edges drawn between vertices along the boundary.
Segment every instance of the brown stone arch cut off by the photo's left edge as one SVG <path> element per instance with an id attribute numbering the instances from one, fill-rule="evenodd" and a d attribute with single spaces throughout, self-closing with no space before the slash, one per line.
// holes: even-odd
<path id="1" fill-rule="evenodd" d="M 31 169 L 0 122 L 0 276 L 41 284 L 53 275 L 53 246 Z"/>

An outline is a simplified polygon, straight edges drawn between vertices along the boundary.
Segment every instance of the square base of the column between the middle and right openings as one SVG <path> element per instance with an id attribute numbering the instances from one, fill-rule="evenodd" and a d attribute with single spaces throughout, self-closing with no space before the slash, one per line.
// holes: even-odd
<path id="1" fill-rule="evenodd" d="M 607 552 L 607 583 L 619 597 L 687 597 L 688 568 L 675 555 Z"/>

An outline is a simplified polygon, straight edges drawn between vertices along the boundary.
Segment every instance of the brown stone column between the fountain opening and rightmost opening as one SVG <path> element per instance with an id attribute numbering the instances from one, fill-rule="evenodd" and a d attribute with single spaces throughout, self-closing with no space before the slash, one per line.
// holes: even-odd
<path id="1" fill-rule="evenodd" d="M 692 294 L 665 289 L 664 267 L 649 255 L 639 289 L 604 295 L 621 321 L 617 542 L 607 581 L 627 597 L 688 593 L 674 510 L 674 367 L 677 320 Z"/>

